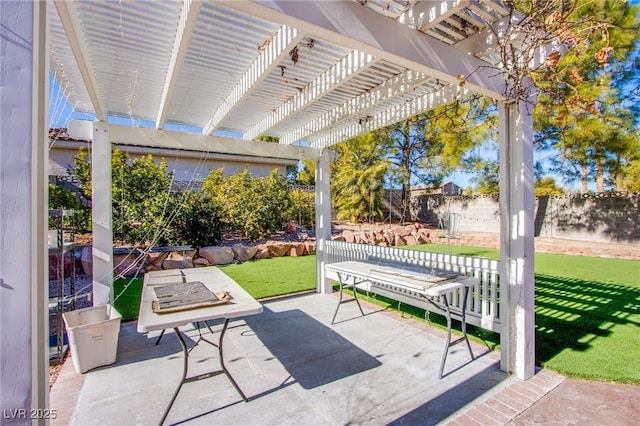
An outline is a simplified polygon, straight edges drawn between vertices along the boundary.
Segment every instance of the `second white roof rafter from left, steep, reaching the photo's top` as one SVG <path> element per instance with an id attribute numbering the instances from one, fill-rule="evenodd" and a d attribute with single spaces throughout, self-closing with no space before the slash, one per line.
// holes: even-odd
<path id="1" fill-rule="evenodd" d="M 178 83 L 178 78 L 180 77 L 184 58 L 187 56 L 187 51 L 189 50 L 191 38 L 193 37 L 201 9 L 201 1 L 184 0 L 183 2 L 182 14 L 178 22 L 173 49 L 171 50 L 167 77 L 164 88 L 162 89 L 162 97 L 160 98 L 160 108 L 158 110 L 158 117 L 156 118 L 156 129 L 162 129 L 164 122 L 167 120 L 169 106 L 173 99 L 173 93 Z"/>

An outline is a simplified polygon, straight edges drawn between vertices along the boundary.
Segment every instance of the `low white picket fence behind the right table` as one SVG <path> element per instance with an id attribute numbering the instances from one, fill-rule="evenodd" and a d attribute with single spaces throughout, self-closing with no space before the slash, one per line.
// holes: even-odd
<path id="1" fill-rule="evenodd" d="M 366 244 L 347 243 L 344 241 L 327 241 L 327 263 L 344 262 L 347 260 L 382 261 L 385 263 L 407 265 L 413 268 L 424 267 L 426 270 L 435 268 L 440 271 L 455 272 L 480 279 L 472 287 L 467 300 L 467 323 L 487 330 L 500 332 L 499 298 L 500 280 L 497 260 L 482 259 L 471 256 L 455 256 L 451 254 L 431 253 L 426 251 L 409 250 L 398 247 L 382 247 Z M 337 276 L 328 275 L 337 280 Z M 411 294 L 387 293 L 376 289 L 377 294 L 432 310 L 424 299 Z M 384 294 L 383 294 L 384 293 Z M 462 294 L 458 291 L 449 294 L 451 312 L 459 317 L 462 312 Z M 438 311 L 438 313 L 441 313 Z"/>

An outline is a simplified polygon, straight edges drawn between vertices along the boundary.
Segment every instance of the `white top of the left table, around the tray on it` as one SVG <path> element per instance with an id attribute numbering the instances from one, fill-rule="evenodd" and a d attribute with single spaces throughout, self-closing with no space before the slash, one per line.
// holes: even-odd
<path id="1" fill-rule="evenodd" d="M 153 287 L 160 284 L 182 282 L 182 273 L 186 281 L 202 281 L 211 291 L 226 291 L 231 297 L 229 303 L 205 308 L 189 309 L 180 312 L 156 314 L 151 303 L 156 298 Z M 193 322 L 217 318 L 238 318 L 259 314 L 262 305 L 249 295 L 242 287 L 215 266 L 193 269 L 173 269 L 167 271 L 148 272 L 144 276 L 140 313 L 138 315 L 138 332 L 163 330 L 181 327 Z"/>

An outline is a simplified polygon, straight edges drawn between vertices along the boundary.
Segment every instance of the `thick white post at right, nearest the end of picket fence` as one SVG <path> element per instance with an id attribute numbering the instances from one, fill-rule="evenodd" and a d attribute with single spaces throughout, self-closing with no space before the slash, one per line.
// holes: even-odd
<path id="1" fill-rule="evenodd" d="M 533 126 L 524 102 L 500 108 L 500 368 L 535 373 Z"/>

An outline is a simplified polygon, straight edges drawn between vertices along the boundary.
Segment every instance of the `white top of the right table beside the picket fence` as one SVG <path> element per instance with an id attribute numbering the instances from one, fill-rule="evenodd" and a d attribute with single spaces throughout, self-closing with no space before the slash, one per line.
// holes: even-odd
<path id="1" fill-rule="evenodd" d="M 326 265 L 326 268 L 333 272 L 366 279 L 372 283 L 406 288 L 426 296 L 442 296 L 457 288 L 478 283 L 477 278 L 464 275 L 451 276 L 453 274 L 448 272 L 431 275 L 426 270 L 419 272 L 411 268 L 377 265 L 371 262 L 337 262 Z M 446 274 L 446 276 L 439 276 L 440 274 Z"/>

